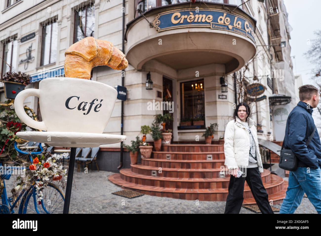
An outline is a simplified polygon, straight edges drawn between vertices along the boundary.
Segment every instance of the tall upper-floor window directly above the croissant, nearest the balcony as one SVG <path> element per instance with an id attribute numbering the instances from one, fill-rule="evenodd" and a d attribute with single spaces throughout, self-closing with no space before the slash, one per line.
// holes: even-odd
<path id="1" fill-rule="evenodd" d="M 92 36 L 95 30 L 95 7 L 91 2 L 88 5 L 80 6 L 75 10 L 74 43 Z"/>

